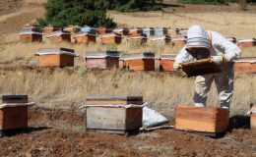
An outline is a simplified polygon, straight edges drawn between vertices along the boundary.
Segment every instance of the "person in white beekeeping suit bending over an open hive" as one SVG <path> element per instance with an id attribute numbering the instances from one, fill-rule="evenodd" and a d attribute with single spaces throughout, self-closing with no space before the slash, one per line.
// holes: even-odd
<path id="1" fill-rule="evenodd" d="M 219 32 L 207 31 L 203 26 L 191 26 L 188 29 L 187 44 L 177 55 L 173 68 L 181 71 L 183 62 L 212 57 L 212 62 L 220 66 L 222 73 L 196 77 L 193 101 L 196 107 L 205 107 L 211 84 L 215 80 L 221 107 L 229 109 L 233 95 L 232 60 L 240 55 L 239 47 Z"/>

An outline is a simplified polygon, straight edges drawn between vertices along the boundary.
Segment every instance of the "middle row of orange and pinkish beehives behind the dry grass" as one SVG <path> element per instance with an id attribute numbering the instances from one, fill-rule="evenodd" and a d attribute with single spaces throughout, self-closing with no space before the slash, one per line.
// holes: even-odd
<path id="1" fill-rule="evenodd" d="M 74 57 L 78 57 L 73 49 L 40 48 L 38 56 L 39 67 L 70 67 L 74 66 Z M 118 51 L 87 52 L 83 59 L 87 69 L 120 68 L 134 71 L 155 71 L 156 60 L 160 61 L 160 71 L 173 71 L 176 54 L 155 53 L 120 53 Z M 256 57 L 243 57 L 234 61 L 236 72 L 256 73 Z"/>

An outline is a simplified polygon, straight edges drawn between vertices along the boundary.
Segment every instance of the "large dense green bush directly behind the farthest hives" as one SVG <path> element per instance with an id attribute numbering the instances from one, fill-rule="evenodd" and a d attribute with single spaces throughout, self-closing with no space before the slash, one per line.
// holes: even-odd
<path id="1" fill-rule="evenodd" d="M 39 26 L 116 26 L 106 15 L 104 0 L 48 0 L 44 7 L 44 19 L 37 19 Z"/>

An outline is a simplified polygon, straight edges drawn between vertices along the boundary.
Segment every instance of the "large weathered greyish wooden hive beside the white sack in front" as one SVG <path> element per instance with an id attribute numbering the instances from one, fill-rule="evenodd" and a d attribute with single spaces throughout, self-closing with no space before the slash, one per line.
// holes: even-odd
<path id="1" fill-rule="evenodd" d="M 129 104 L 134 104 L 128 107 Z M 124 134 L 142 127 L 140 96 L 87 98 L 87 131 Z M 117 107 L 118 106 L 118 107 Z"/>

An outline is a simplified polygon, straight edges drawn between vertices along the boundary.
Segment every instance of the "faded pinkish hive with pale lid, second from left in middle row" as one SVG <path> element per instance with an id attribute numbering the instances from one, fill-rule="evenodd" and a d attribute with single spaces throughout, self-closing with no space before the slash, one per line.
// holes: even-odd
<path id="1" fill-rule="evenodd" d="M 88 69 L 110 69 L 119 67 L 118 51 L 87 52 L 86 66 Z"/>

